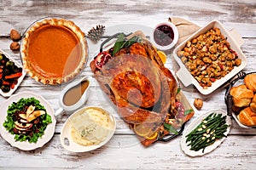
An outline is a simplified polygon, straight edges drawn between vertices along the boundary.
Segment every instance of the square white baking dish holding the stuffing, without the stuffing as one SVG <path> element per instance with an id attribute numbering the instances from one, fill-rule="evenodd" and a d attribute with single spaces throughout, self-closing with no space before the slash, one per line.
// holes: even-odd
<path id="1" fill-rule="evenodd" d="M 190 72 L 187 70 L 185 65 L 183 65 L 182 60 L 177 56 L 177 52 L 182 50 L 185 47 L 186 42 L 192 40 L 195 37 L 198 37 L 200 34 L 207 32 L 213 27 L 218 27 L 221 33 L 224 35 L 224 37 L 227 37 L 227 41 L 230 42 L 230 48 L 235 50 L 236 54 L 238 55 L 238 58 L 241 59 L 241 65 L 234 67 L 234 69 L 230 71 L 230 73 L 227 74 L 225 77 L 222 77 L 221 79 L 216 80 L 216 82 L 212 82 L 211 87 L 203 88 L 201 87 L 199 82 L 197 82 L 195 78 L 190 74 Z M 236 74 L 240 72 L 247 65 L 247 58 L 241 51 L 241 45 L 243 44 L 243 42 L 244 41 L 242 40 L 241 36 L 235 29 L 226 31 L 224 26 L 218 20 L 212 20 L 206 26 L 196 31 L 193 35 L 191 35 L 184 42 L 179 44 L 177 48 L 174 49 L 173 51 L 174 59 L 177 61 L 177 64 L 180 66 L 180 69 L 176 73 L 178 79 L 181 80 L 181 82 L 183 82 L 183 85 L 185 87 L 188 87 L 190 84 L 193 84 L 201 94 L 204 94 L 204 95 L 211 94 L 214 90 L 216 90 L 225 82 L 230 80 L 230 78 L 236 76 Z"/>

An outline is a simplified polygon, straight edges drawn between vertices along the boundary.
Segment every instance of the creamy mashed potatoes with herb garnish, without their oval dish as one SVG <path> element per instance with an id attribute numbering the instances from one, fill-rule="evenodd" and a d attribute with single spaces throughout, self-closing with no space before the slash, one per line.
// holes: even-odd
<path id="1" fill-rule="evenodd" d="M 111 130 L 108 113 L 99 108 L 88 108 L 74 116 L 71 122 L 73 141 L 85 146 L 101 143 Z"/>

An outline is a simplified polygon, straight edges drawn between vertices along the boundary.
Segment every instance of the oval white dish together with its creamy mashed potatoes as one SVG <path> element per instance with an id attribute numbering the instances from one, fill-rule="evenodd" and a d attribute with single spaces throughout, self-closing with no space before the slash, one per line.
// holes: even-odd
<path id="1" fill-rule="evenodd" d="M 96 150 L 112 138 L 116 121 L 101 107 L 84 107 L 69 116 L 61 130 L 62 146 L 72 152 Z"/>

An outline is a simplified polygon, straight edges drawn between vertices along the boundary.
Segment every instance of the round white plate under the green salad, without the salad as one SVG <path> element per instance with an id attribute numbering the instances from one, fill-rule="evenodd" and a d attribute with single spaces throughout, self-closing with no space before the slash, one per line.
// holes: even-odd
<path id="1" fill-rule="evenodd" d="M 38 99 L 40 101 L 40 105 L 44 105 L 44 108 L 46 109 L 47 114 L 49 114 L 49 116 L 51 116 L 52 122 L 49 123 L 49 125 L 46 127 L 46 129 L 44 131 L 44 135 L 42 136 L 42 138 L 38 139 L 37 143 L 29 143 L 28 141 L 23 141 L 23 142 L 15 141 L 15 135 L 9 133 L 5 129 L 5 127 L 3 127 L 3 122 L 6 120 L 8 107 L 13 102 L 17 102 L 21 98 L 26 99 L 26 98 L 31 98 L 31 97 Z M 1 110 L 0 110 L 0 133 L 1 133 L 1 136 L 3 137 L 3 139 L 5 139 L 7 142 L 9 142 L 9 144 L 11 144 L 12 146 L 15 146 L 16 148 L 19 148 L 20 150 L 35 150 L 39 147 L 42 147 L 42 146 L 44 146 L 44 144 L 49 142 L 49 140 L 53 137 L 53 135 L 55 133 L 56 120 L 55 120 L 54 113 L 55 113 L 55 111 L 51 107 L 51 105 L 49 105 L 48 101 L 46 101 L 39 94 L 34 94 L 32 92 L 22 92 L 19 94 L 14 94 L 11 97 L 9 97 L 9 99 L 7 99 L 1 105 Z"/>

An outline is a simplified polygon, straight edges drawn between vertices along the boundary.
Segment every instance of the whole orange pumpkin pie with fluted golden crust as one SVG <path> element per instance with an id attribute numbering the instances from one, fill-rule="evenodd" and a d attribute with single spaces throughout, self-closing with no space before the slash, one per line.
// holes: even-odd
<path id="1" fill-rule="evenodd" d="M 68 82 L 88 59 L 84 32 L 73 21 L 44 19 L 33 24 L 22 39 L 20 54 L 30 77 L 44 84 Z"/>

